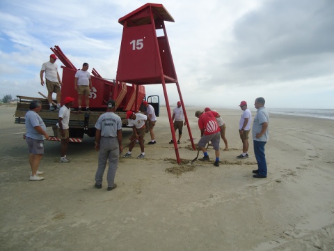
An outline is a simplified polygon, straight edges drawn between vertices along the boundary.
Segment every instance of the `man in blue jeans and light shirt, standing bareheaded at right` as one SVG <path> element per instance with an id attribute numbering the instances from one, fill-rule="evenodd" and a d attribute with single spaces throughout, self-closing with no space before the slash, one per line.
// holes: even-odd
<path id="1" fill-rule="evenodd" d="M 264 146 L 269 139 L 269 114 L 264 107 L 264 103 L 265 100 L 262 97 L 255 99 L 254 103 L 257 109 L 252 128 L 254 153 L 257 160 L 257 170 L 253 170 L 254 178 L 267 178 L 267 162 Z"/>

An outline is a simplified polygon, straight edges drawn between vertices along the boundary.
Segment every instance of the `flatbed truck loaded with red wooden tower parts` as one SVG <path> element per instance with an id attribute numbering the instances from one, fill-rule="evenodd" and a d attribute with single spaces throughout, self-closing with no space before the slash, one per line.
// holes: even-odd
<path id="1" fill-rule="evenodd" d="M 93 68 L 92 80 L 93 89 L 90 89 L 90 111 L 76 112 L 78 108 L 77 91 L 74 90 L 74 76 L 77 68 L 73 66 L 69 59 L 63 54 L 61 48 L 55 46 L 51 48 L 52 52 L 58 56 L 64 66 L 61 88 L 61 105 L 64 104 L 66 96 L 74 98 L 74 104 L 71 107 L 69 132 L 70 142 L 82 142 L 84 135 L 89 137 L 95 136 L 95 123 L 100 115 L 106 112 L 106 102 L 113 99 L 116 100 L 117 109 L 116 114 L 122 119 L 122 127 L 127 127 L 126 112 L 132 110 L 134 112 L 144 112 L 145 106 L 143 101 L 147 100 L 155 110 L 155 114 L 159 116 L 159 96 L 145 96 L 145 86 L 136 86 L 134 84 L 127 84 L 125 82 L 116 82 L 115 80 L 104 79 L 97 70 Z M 138 91 L 136 91 L 138 88 Z M 138 93 L 137 102 L 136 93 Z M 15 123 L 25 123 L 24 116 L 29 111 L 29 105 L 32 100 L 40 100 L 42 102 L 42 109 L 40 110 L 40 117 L 45 123 L 45 126 L 51 127 L 54 135 L 50 137 L 51 141 L 61 141 L 57 136 L 58 112 L 49 111 L 49 102 L 46 96 L 40 93 L 42 97 L 28 97 L 17 96 L 17 109 L 15 111 Z M 56 100 L 53 100 L 54 102 Z M 84 102 L 84 100 L 83 100 Z M 24 136 L 25 137 L 25 136 Z"/>

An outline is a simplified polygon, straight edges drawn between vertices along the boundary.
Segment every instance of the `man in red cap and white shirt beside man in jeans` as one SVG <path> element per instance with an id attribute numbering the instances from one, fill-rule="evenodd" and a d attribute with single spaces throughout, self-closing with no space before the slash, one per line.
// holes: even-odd
<path id="1" fill-rule="evenodd" d="M 248 135 L 250 131 L 250 123 L 252 121 L 252 114 L 247 108 L 247 102 L 241 101 L 239 107 L 244 112 L 241 114 L 241 119 L 239 122 L 239 135 L 242 141 L 242 153 L 237 156 L 239 159 L 248 158 Z"/>

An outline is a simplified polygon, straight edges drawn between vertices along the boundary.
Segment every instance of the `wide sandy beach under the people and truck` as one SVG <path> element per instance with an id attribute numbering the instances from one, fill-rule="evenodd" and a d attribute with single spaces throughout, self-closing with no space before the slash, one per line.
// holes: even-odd
<path id="1" fill-rule="evenodd" d="M 195 143 L 196 109 L 186 109 Z M 147 134 L 145 159 L 120 158 L 109 192 L 106 177 L 93 187 L 98 153 L 86 136 L 68 146 L 68 164 L 58 162 L 59 142 L 45 142 L 45 180 L 29 181 L 25 126 L 14 123 L 15 106 L 1 106 L 0 250 L 334 250 L 334 121 L 270 114 L 268 177 L 253 178 L 251 137 L 250 157 L 236 158 L 241 110 L 216 110 L 230 148 L 221 141 L 220 167 L 212 147 L 211 162 L 189 165 L 197 151 L 186 128 L 177 164 L 161 107 L 157 144 Z M 131 133 L 123 130 L 124 146 Z M 173 172 L 180 167 L 188 172 Z"/>

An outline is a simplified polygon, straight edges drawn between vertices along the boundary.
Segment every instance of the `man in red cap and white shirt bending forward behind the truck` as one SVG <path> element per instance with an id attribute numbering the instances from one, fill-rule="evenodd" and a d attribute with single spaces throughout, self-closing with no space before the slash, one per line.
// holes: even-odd
<path id="1" fill-rule="evenodd" d="M 132 127 L 131 142 L 129 144 L 129 151 L 125 153 L 123 158 L 129 158 L 132 154 L 132 149 L 134 149 L 135 139 L 138 139 L 139 146 L 141 146 L 141 155 L 137 158 L 145 158 L 144 151 L 144 136 L 145 136 L 145 122 L 148 116 L 141 114 L 140 112 L 134 113 L 132 111 L 127 111 L 127 122 L 129 127 Z"/>

